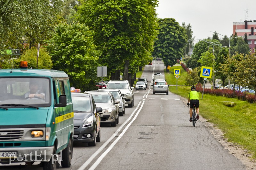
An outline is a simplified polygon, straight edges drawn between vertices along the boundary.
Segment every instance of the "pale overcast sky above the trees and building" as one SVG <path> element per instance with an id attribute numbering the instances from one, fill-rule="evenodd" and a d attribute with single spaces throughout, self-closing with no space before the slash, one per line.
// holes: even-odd
<path id="1" fill-rule="evenodd" d="M 190 23 L 195 39 L 212 38 L 215 31 L 229 37 L 233 22 L 256 20 L 256 0 L 158 0 L 156 13 L 180 25 Z"/>

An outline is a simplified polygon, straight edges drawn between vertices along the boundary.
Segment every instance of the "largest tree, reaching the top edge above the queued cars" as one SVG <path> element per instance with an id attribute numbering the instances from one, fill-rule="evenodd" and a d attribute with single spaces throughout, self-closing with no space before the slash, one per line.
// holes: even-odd
<path id="1" fill-rule="evenodd" d="M 150 59 L 157 34 L 157 3 L 157 0 L 82 1 L 78 20 L 94 31 L 95 45 L 102 52 L 100 63 L 108 67 L 111 79 L 124 70 L 123 79 L 131 80 L 136 67 Z"/>

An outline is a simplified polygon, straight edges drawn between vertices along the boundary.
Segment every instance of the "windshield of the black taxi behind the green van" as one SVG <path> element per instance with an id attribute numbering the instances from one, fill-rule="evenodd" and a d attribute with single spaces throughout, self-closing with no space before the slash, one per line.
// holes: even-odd
<path id="1" fill-rule="evenodd" d="M 90 97 L 72 96 L 74 111 L 91 111 Z"/>

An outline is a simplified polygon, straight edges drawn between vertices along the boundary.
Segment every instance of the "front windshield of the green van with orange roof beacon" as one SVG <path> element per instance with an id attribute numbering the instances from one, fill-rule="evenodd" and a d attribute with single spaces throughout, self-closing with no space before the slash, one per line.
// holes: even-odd
<path id="1" fill-rule="evenodd" d="M 0 106 L 12 107 L 50 105 L 50 81 L 48 78 L 8 77 L 0 78 Z"/>

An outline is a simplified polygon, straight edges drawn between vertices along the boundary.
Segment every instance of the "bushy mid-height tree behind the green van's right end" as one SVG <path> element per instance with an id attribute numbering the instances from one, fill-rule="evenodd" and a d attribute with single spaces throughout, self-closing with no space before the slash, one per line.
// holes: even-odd
<path id="1" fill-rule="evenodd" d="M 70 85 L 93 89 L 97 78 L 99 50 L 93 44 L 92 31 L 84 24 L 60 23 L 46 46 L 52 56 L 53 69 L 66 72 Z"/>

